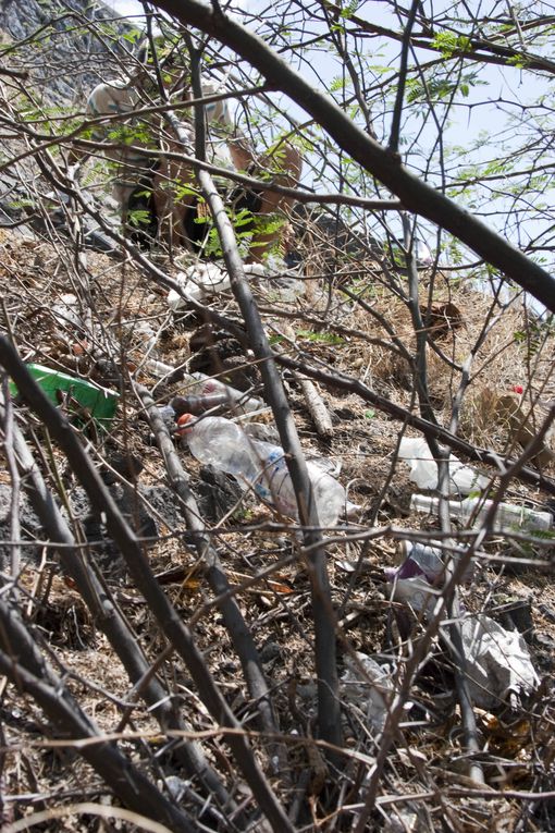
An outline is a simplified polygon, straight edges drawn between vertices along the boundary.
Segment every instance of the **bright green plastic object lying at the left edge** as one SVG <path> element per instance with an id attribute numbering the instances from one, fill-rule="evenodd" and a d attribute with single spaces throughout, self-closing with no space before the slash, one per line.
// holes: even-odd
<path id="1" fill-rule="evenodd" d="M 42 365 L 27 365 L 27 370 L 54 405 L 62 404 L 63 394 L 66 394 L 66 411 L 69 414 L 73 412 L 79 422 L 86 421 L 85 415 L 78 413 L 81 407 L 86 409 L 101 428 L 108 429 L 110 427 L 118 407 L 119 393 L 108 388 L 101 388 L 88 379 L 79 379 Z M 10 388 L 12 393 L 16 395 L 17 388 L 13 382 Z M 74 403 L 77 403 L 77 407 Z"/>

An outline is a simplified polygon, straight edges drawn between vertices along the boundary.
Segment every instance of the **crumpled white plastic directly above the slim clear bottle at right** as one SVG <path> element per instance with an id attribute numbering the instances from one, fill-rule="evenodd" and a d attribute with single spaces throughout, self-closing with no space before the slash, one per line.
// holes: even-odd
<path id="1" fill-rule="evenodd" d="M 437 463 L 427 441 L 420 437 L 404 437 L 398 455 L 410 465 L 409 477 L 419 489 L 437 488 Z M 485 489 L 489 479 L 466 466 L 454 454 L 449 454 L 449 493 L 469 494 Z"/>

